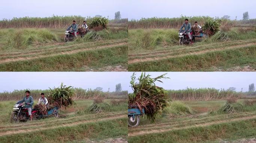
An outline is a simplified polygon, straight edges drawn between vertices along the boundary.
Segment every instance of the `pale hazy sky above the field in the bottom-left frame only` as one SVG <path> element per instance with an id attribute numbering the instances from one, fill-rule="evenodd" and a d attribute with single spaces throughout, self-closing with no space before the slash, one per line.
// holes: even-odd
<path id="1" fill-rule="evenodd" d="M 49 89 L 61 82 L 75 88 L 95 89 L 102 87 L 115 91 L 121 83 L 123 90 L 129 88 L 129 73 L 125 72 L 0 72 L 0 92 L 14 89 Z"/>

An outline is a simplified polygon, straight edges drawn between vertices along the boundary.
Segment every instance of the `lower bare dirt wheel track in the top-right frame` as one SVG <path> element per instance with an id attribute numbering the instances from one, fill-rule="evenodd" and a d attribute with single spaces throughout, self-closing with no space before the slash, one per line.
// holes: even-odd
<path id="1" fill-rule="evenodd" d="M 229 47 L 217 48 L 217 49 L 215 48 L 215 49 L 202 50 L 202 51 L 191 52 L 191 53 L 186 53 L 186 54 L 170 55 L 170 56 L 166 56 L 166 57 L 157 57 L 157 55 L 156 55 L 156 57 L 152 57 L 152 58 L 128 60 L 128 64 L 146 62 L 146 61 L 154 61 L 154 60 L 162 60 L 162 59 L 167 59 L 167 58 L 184 57 L 187 55 L 199 55 L 199 54 L 205 54 L 205 53 L 212 52 L 212 51 L 230 50 L 230 49 L 235 49 L 235 48 L 246 48 L 246 47 L 255 46 L 255 45 L 256 45 L 256 43 L 254 42 L 254 43 L 250 43 L 250 44 L 246 44 L 246 45 L 236 45 L 236 46 L 229 46 Z"/>

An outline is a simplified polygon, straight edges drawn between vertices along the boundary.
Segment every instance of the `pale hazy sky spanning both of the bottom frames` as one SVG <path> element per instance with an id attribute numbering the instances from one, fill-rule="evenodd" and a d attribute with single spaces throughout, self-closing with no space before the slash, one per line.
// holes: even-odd
<path id="1" fill-rule="evenodd" d="M 14 89 L 48 89 L 64 85 L 76 88 L 95 89 L 102 87 L 104 91 L 110 88 L 115 90 L 115 85 L 121 83 L 123 90 L 132 92 L 129 84 L 133 72 L 0 72 L 0 92 L 13 91 Z M 146 72 L 152 77 L 167 72 Z M 136 77 L 141 72 L 136 72 Z M 156 85 L 165 89 L 189 88 L 237 88 L 237 91 L 247 91 L 249 84 L 256 85 L 256 72 L 168 72 L 163 79 L 164 83 Z"/>

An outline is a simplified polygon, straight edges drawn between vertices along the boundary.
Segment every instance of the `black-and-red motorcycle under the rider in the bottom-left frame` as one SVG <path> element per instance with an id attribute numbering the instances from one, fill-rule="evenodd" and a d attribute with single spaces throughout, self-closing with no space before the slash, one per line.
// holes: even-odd
<path id="1" fill-rule="evenodd" d="M 28 115 L 28 108 L 25 108 L 24 103 L 15 104 L 13 112 L 11 114 L 10 122 L 19 122 L 30 120 L 30 115 Z M 32 109 L 31 111 L 32 119 L 39 118 L 39 111 Z"/>

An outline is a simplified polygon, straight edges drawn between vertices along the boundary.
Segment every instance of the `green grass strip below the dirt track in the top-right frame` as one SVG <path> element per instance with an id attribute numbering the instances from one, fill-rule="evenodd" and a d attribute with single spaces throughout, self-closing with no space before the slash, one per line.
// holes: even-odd
<path id="1" fill-rule="evenodd" d="M 215 71 L 234 66 L 251 65 L 256 68 L 256 47 L 213 51 L 199 55 L 167 58 L 157 61 L 132 63 L 128 71 Z"/>

